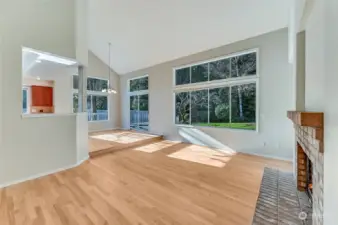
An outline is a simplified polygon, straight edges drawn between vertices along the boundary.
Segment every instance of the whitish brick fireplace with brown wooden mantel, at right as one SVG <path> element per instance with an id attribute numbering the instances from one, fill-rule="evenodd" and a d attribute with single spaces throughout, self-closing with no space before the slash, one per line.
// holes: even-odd
<path id="1" fill-rule="evenodd" d="M 312 224 L 323 224 L 324 115 L 313 112 L 288 112 L 296 133 L 297 188 L 307 192 L 312 202 Z"/>

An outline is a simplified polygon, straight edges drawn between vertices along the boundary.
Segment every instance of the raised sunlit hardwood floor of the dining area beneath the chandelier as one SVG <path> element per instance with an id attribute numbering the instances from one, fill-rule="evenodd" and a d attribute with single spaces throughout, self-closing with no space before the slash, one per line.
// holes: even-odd
<path id="1" fill-rule="evenodd" d="M 118 151 L 162 139 L 161 136 L 135 131 L 101 131 L 89 134 L 90 156 L 98 156 L 110 151 Z"/>

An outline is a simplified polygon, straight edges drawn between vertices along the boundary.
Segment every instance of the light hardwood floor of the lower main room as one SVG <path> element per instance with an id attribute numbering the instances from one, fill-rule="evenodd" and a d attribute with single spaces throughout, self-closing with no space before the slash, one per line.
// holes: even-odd
<path id="1" fill-rule="evenodd" d="M 292 169 L 202 148 L 159 140 L 1 189 L 0 224 L 250 225 L 263 168 Z"/>

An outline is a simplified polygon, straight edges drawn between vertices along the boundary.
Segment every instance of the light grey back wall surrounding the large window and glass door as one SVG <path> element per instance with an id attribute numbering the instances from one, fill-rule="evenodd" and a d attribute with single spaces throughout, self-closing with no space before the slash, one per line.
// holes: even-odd
<path id="1" fill-rule="evenodd" d="M 259 132 L 174 125 L 173 67 L 251 48 L 259 48 Z M 189 139 L 193 143 L 213 147 L 230 147 L 240 152 L 292 159 L 294 129 L 286 117 L 287 110 L 294 105 L 290 93 L 293 79 L 289 74 L 287 29 L 122 75 L 123 128 L 129 127 L 127 80 L 144 74 L 149 74 L 150 132 L 163 134 L 172 140 Z"/>

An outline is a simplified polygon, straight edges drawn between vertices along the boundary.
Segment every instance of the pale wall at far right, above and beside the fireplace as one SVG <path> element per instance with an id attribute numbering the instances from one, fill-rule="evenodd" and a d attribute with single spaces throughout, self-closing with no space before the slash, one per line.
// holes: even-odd
<path id="1" fill-rule="evenodd" d="M 324 225 L 336 225 L 338 2 L 314 2 L 306 24 L 306 109 L 324 112 Z"/>

